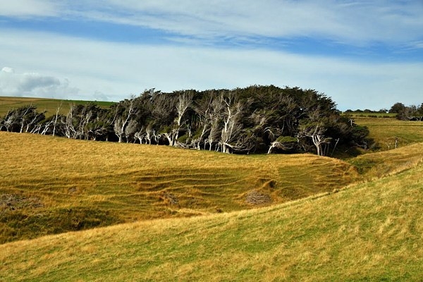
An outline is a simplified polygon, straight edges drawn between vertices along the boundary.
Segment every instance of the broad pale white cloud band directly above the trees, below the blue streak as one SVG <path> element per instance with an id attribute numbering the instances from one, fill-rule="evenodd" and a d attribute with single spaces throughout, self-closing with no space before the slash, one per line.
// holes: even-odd
<path id="1" fill-rule="evenodd" d="M 420 104 L 423 97 L 423 63 L 368 63 L 264 49 L 119 44 L 16 30 L 0 30 L 0 36 L 8 38 L 0 45 L 4 66 L 42 74 L 1 72 L 0 81 L 8 75 L 9 94 L 26 90 L 31 95 L 119 101 L 152 87 L 173 91 L 274 84 L 325 92 L 340 109 Z"/>

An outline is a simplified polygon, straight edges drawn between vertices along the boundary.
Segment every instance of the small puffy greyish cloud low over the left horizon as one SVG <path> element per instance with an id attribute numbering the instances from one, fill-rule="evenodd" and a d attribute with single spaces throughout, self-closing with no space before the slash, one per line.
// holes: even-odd
<path id="1" fill-rule="evenodd" d="M 57 97 L 66 99 L 78 94 L 78 89 L 70 87 L 68 80 L 59 80 L 39 73 L 16 73 L 11 67 L 0 71 L 0 94 L 20 97 Z"/>

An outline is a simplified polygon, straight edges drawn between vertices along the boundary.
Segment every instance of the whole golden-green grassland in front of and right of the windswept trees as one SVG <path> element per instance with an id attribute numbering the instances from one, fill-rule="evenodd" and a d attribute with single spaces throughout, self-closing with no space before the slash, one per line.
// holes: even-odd
<path id="1" fill-rule="evenodd" d="M 422 281 L 423 123 L 355 122 L 379 152 L 0 132 L 0 281 Z"/>

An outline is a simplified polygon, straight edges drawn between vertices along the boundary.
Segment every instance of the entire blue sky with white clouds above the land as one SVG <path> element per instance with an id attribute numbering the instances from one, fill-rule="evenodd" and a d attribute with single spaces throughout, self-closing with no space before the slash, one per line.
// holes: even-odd
<path id="1" fill-rule="evenodd" d="M 0 96 L 314 89 L 423 103 L 423 0 L 0 0 Z"/>

